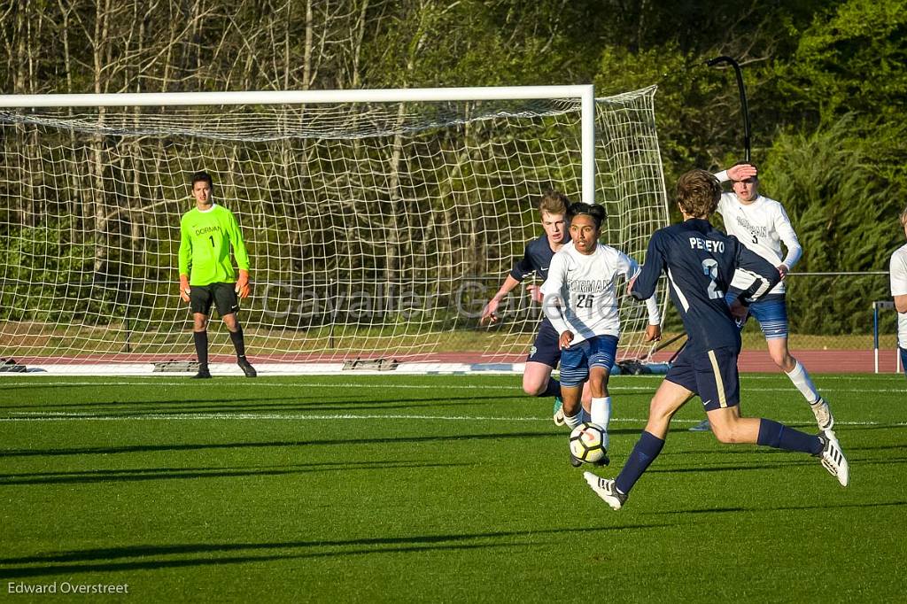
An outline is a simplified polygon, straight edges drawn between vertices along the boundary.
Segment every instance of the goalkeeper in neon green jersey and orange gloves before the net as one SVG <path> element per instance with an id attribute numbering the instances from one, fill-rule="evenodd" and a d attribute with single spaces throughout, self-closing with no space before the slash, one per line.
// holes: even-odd
<path id="1" fill-rule="evenodd" d="M 190 304 L 195 325 L 195 351 L 199 355 L 199 373 L 210 377 L 208 370 L 208 316 L 211 305 L 229 329 L 236 347 L 237 365 L 246 377 L 255 377 L 255 367 L 246 359 L 246 344 L 236 312 L 239 297 L 249 296 L 249 254 L 242 242 L 239 223 L 229 209 L 214 203 L 214 184 L 208 172 L 192 175 L 192 197 L 195 209 L 180 219 L 180 297 Z M 229 251 L 239 266 L 239 278 L 230 262 Z M 191 272 L 190 272 L 191 267 Z"/>

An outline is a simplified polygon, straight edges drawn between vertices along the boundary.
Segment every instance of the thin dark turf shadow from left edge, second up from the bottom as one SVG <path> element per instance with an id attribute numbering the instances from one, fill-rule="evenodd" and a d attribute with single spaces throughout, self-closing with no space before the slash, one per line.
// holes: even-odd
<path id="1" fill-rule="evenodd" d="M 240 468 L 135 468 L 129 470 L 85 470 L 83 472 L 31 472 L 0 474 L 0 488 L 23 484 L 81 484 L 89 482 L 170 481 L 239 476 L 283 476 L 309 472 L 350 472 L 356 470 L 401 470 L 407 468 L 450 468 L 469 463 L 428 462 L 336 462 Z"/>

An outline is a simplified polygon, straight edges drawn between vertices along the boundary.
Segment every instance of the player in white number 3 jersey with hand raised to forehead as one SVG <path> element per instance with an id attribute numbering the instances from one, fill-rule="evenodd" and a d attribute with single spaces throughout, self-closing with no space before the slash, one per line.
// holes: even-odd
<path id="1" fill-rule="evenodd" d="M 717 212 L 724 219 L 728 235 L 739 239 L 746 248 L 766 258 L 778 269 L 781 281 L 766 297 L 749 307 L 749 312 L 766 336 L 768 353 L 782 369 L 796 388 L 804 395 L 815 415 L 820 430 L 831 430 L 834 417 L 828 404 L 815 389 L 805 367 L 790 354 L 787 348 L 787 307 L 785 303 L 785 281 L 787 273 L 794 268 L 803 253 L 784 206 L 779 202 L 759 195 L 759 180 L 756 166 L 739 162 L 726 171 L 718 172 L 718 180 L 733 182 L 733 193 L 724 193 L 718 201 Z M 781 245 L 786 254 L 782 256 Z M 727 292 L 728 304 L 741 291 L 749 287 L 753 278 L 743 271 L 737 271 Z M 740 323 L 743 324 L 746 318 Z M 707 424 L 697 426 L 707 429 Z"/>

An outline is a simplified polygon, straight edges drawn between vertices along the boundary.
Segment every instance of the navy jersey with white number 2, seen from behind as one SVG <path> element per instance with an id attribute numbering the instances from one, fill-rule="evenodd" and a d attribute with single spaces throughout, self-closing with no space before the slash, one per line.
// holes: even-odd
<path id="1" fill-rule="evenodd" d="M 746 270 L 756 278 L 740 294 L 745 304 L 765 296 L 781 278 L 765 258 L 714 229 L 708 220 L 688 219 L 655 231 L 646 264 L 630 293 L 640 300 L 650 297 L 664 272 L 671 302 L 689 336 L 689 352 L 726 346 L 739 351 L 740 332 L 725 301 L 736 270 Z"/>

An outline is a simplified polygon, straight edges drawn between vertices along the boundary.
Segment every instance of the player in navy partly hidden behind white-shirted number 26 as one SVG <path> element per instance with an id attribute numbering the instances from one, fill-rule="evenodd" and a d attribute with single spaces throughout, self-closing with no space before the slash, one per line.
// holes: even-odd
<path id="1" fill-rule="evenodd" d="M 541 214 L 541 227 L 545 232 L 541 237 L 532 239 L 526 245 L 522 258 L 513 265 L 501 288 L 483 308 L 482 316 L 479 318 L 480 323 L 496 323 L 499 320 L 498 306 L 514 288 L 522 283 L 524 278 L 529 277 L 532 273 L 535 273 L 542 281 L 548 278 L 551 258 L 555 252 L 570 241 L 570 226 L 567 223 L 567 207 L 570 203 L 571 201 L 566 195 L 556 190 L 549 190 L 541 196 L 538 209 Z M 541 302 L 539 286 L 529 285 L 526 290 L 532 299 Z M 561 425 L 563 424 L 561 383 L 551 377 L 551 371 L 561 361 L 561 346 L 558 345 L 558 338 L 558 332 L 551 326 L 551 321 L 547 317 L 543 317 L 535 341 L 526 357 L 526 367 L 522 374 L 522 389 L 530 396 L 556 397 L 554 423 Z M 583 395 L 583 401 L 586 406 L 589 405 L 588 389 Z"/>

